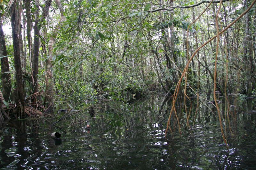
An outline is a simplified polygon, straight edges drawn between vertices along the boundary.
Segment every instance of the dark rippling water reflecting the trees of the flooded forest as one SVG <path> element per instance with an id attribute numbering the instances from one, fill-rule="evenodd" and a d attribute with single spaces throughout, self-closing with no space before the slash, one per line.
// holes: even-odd
<path id="1" fill-rule="evenodd" d="M 220 132 L 216 109 L 200 103 L 190 129 L 180 121 L 181 135 L 173 129 L 164 137 L 170 113 L 164 97 L 151 96 L 131 104 L 104 103 L 76 119 L 50 127 L 49 119 L 1 122 L 0 167 L 2 169 L 255 169 L 255 100 L 232 97 L 229 114 L 223 114 Z M 170 105 L 170 103 L 169 103 Z M 178 106 L 181 118 L 186 114 Z M 220 104 L 225 113 L 225 100 Z M 189 109 L 189 107 L 188 107 Z M 90 116 L 94 113 L 94 118 Z M 91 125 L 90 133 L 86 125 Z M 172 122 L 172 124 L 175 123 Z M 62 133 L 54 140 L 49 133 Z"/>

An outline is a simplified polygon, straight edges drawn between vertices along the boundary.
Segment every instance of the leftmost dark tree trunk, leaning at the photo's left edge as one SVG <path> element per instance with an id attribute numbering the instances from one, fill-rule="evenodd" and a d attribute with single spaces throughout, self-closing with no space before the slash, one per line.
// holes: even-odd
<path id="1" fill-rule="evenodd" d="M 0 14 L 1 20 L 1 14 Z M 6 56 L 6 57 L 3 57 Z M 5 46 L 4 32 L 2 24 L 0 23 L 0 57 L 1 58 L 1 76 L 2 76 L 2 92 L 5 101 L 8 101 L 11 94 L 11 74 L 9 69 L 9 62 Z"/>

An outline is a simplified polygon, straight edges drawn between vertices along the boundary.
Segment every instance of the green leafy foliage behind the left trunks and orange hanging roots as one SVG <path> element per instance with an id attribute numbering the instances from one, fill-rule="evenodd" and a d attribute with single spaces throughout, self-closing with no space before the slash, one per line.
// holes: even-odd
<path id="1" fill-rule="evenodd" d="M 63 16 L 59 14 L 57 2 L 52 2 L 48 18 L 40 22 L 38 82 L 39 90 L 45 91 L 45 77 L 49 72 L 46 61 L 51 59 L 54 101 L 62 104 L 69 102 L 74 106 L 84 100 L 98 100 L 102 95 L 108 99 L 126 101 L 125 98 L 131 98 L 133 93 L 143 94 L 156 88 L 161 92 L 173 92 L 190 56 L 216 34 L 215 4 L 189 26 L 205 9 L 202 4 L 196 5 L 196 1 L 160 1 L 162 4 L 159 4 L 157 1 L 134 0 L 60 0 Z M 8 9 L 7 1 L 1 4 L 2 10 Z M 25 4 L 21 5 L 24 8 Z M 40 10 L 44 9 L 45 4 L 40 5 Z M 189 5 L 196 6 L 192 8 Z M 245 5 L 240 1 L 223 2 L 218 17 L 220 29 L 242 14 Z M 23 14 L 29 15 L 28 11 L 22 10 Z M 31 13 L 36 12 L 36 6 L 30 6 L 30 10 Z M 40 11 L 40 17 L 42 14 Z M 252 41 L 255 38 L 254 14 L 255 7 L 220 35 L 216 67 L 220 92 L 224 92 L 226 76 L 227 92 L 248 94 L 248 89 L 256 88 L 253 78 L 256 70 Z M 65 17 L 62 22 L 59 21 L 61 17 Z M 26 17 L 21 21 L 23 19 L 27 21 Z M 32 22 L 35 22 L 34 18 Z M 248 42 L 254 52 L 248 49 L 244 53 L 246 36 L 252 38 Z M 26 44 L 21 45 L 28 51 L 31 47 L 28 46 L 27 33 L 23 35 L 24 38 Z M 11 41 L 8 36 L 5 39 Z M 52 39 L 55 41 L 53 55 L 49 55 L 48 46 Z M 12 44 L 6 47 L 8 55 L 12 55 Z M 191 61 L 181 83 L 182 87 L 188 87 L 189 96 L 193 96 L 197 90 L 202 95 L 212 94 L 215 47 L 216 40 L 213 40 Z M 29 56 L 27 52 L 27 72 L 33 71 L 28 64 L 31 62 Z M 13 58 L 9 57 L 9 61 L 14 79 Z M 250 67 L 247 67 L 248 64 Z M 31 82 L 28 81 L 25 87 L 28 95 L 33 90 Z"/>

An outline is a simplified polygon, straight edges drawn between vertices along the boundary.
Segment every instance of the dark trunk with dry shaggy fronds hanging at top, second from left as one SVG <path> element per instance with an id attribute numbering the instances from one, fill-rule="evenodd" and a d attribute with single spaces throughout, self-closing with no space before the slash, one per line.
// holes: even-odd
<path id="1" fill-rule="evenodd" d="M 12 7 L 12 42 L 13 42 L 13 54 L 14 54 L 14 67 L 15 67 L 15 78 L 16 78 L 16 90 L 15 90 L 15 102 L 20 105 L 20 117 L 24 114 L 24 92 L 21 74 L 21 62 L 20 62 L 20 11 L 19 1 L 16 1 Z"/>

